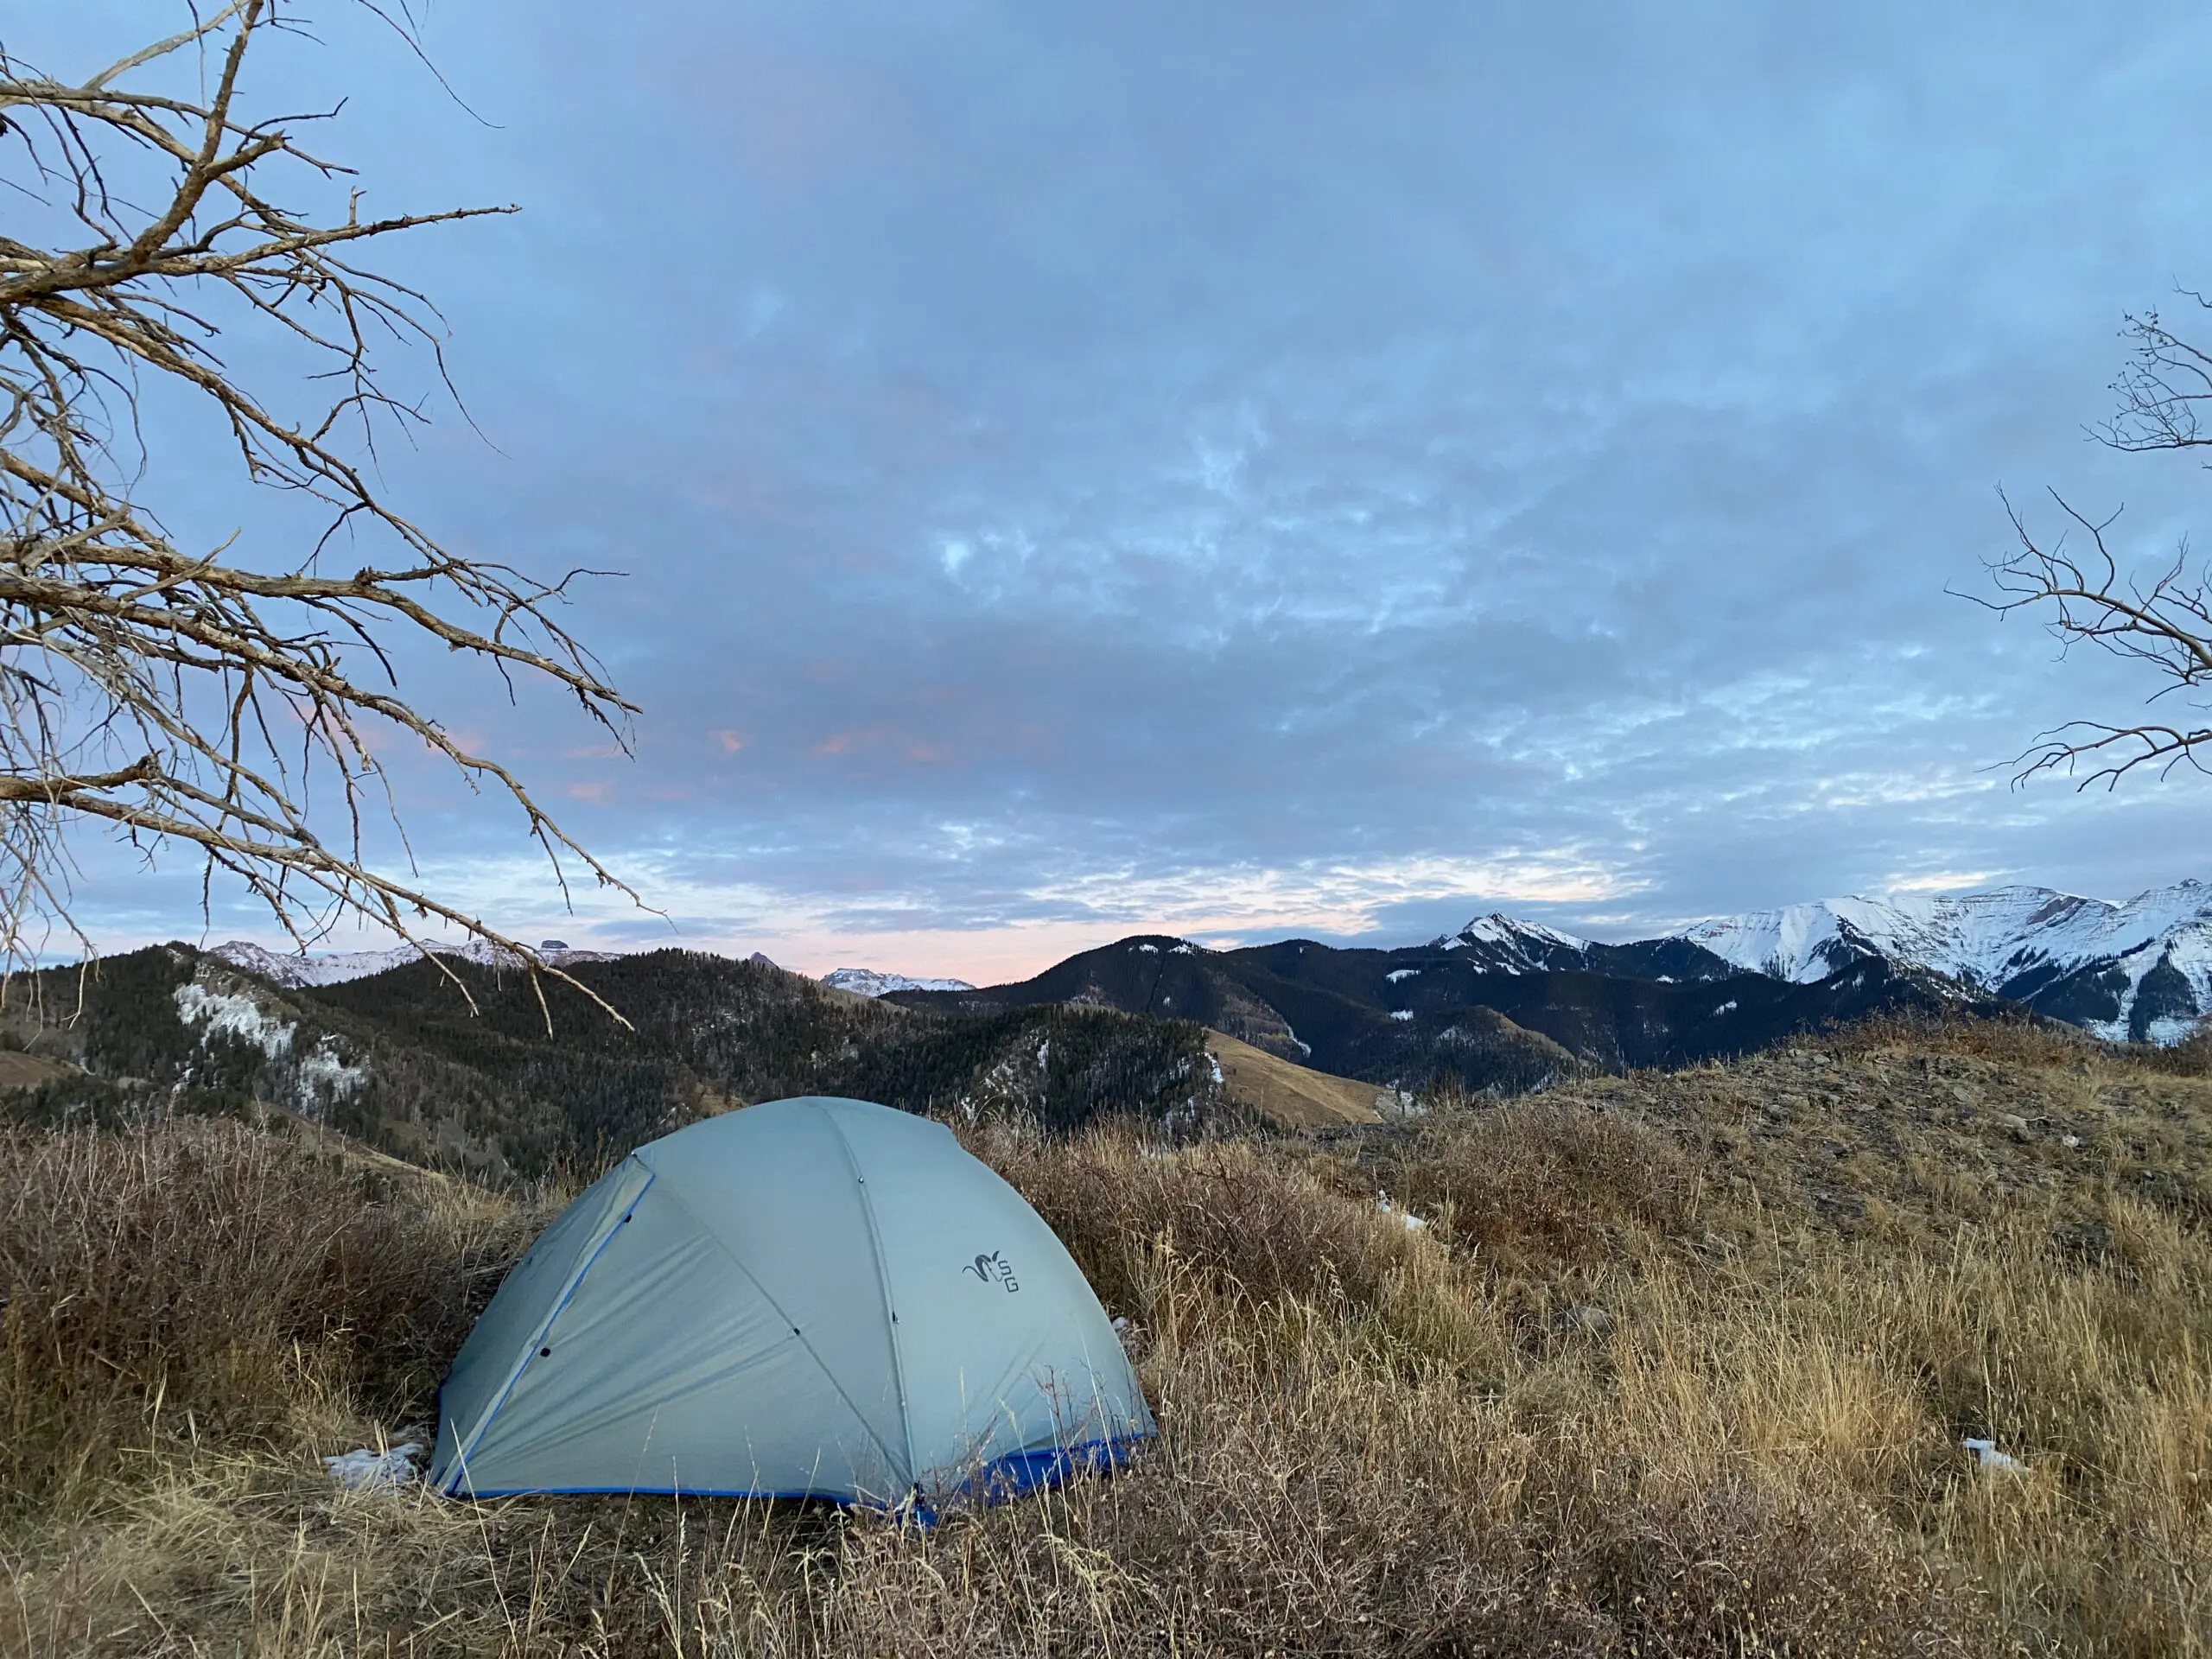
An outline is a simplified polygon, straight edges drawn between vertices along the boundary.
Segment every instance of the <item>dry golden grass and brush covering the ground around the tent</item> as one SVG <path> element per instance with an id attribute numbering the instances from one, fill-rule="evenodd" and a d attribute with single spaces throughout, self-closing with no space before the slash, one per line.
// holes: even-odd
<path id="1" fill-rule="evenodd" d="M 2006 1042 L 1325 1146 L 991 1135 L 1164 1436 L 927 1535 L 338 1493 L 312 1458 L 427 1413 L 526 1225 L 221 1124 L 18 1135 L 0 1648 L 2205 1652 L 2212 1084 Z"/>

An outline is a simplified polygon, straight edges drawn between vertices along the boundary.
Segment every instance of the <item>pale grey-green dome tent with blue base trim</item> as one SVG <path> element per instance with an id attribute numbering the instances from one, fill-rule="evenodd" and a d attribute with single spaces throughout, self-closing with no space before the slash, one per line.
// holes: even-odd
<path id="1" fill-rule="evenodd" d="M 637 1148 L 500 1285 L 429 1484 L 1004 1495 L 1152 1433 L 1053 1230 L 927 1117 L 779 1099 Z"/>

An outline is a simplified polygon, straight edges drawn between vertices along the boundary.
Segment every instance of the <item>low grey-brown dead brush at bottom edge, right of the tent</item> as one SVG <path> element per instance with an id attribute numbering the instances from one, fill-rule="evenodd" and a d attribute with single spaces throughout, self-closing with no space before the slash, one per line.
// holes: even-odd
<path id="1" fill-rule="evenodd" d="M 830 1650 L 1190 1655 L 1960 1655 L 1982 1601 L 1849 1500 L 1688 1484 L 1451 1378 L 1376 1371 L 1329 1327 L 1190 1349 L 1175 1431 L 1113 1484 L 854 1528 Z M 1995 1646 L 1995 1644 L 1991 1644 Z"/>

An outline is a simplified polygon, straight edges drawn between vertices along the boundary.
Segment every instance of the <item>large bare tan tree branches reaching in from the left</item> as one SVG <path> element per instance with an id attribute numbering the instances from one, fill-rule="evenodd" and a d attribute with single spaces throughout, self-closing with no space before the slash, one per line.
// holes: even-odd
<path id="1" fill-rule="evenodd" d="M 418 49 L 389 11 L 367 9 Z M 422 891 L 411 856 L 405 878 L 372 869 L 363 843 L 365 805 L 398 825 L 378 745 L 414 741 L 522 812 L 564 896 L 588 876 L 637 898 L 394 675 L 403 639 L 434 639 L 566 688 L 626 750 L 635 710 L 557 617 L 584 573 L 542 582 L 449 553 L 338 442 L 349 434 L 374 456 L 380 425 L 427 418 L 385 389 L 374 347 L 414 343 L 445 383 L 436 310 L 354 252 L 513 208 L 363 219 L 358 190 L 336 221 L 279 206 L 281 168 L 303 181 L 347 173 L 294 139 L 325 117 L 246 111 L 248 53 L 290 27 L 285 0 L 232 0 L 82 82 L 0 51 L 0 179 L 77 232 L 62 248 L 46 230 L 0 234 L 0 956 L 31 960 L 53 927 L 91 951 L 71 918 L 66 845 L 91 821 L 148 856 L 190 847 L 301 947 L 345 916 L 420 947 L 418 925 L 436 920 L 568 980 Z M 212 71 L 197 93 L 135 80 L 188 46 Z M 292 418 L 248 389 L 215 354 L 230 316 L 321 356 L 312 383 L 327 403 Z M 199 398 L 252 482 L 321 502 L 323 533 L 272 560 L 239 557 L 237 535 L 204 553 L 177 546 L 139 495 L 150 376 Z M 338 531 L 389 540 L 392 568 L 319 568 Z M 334 801 L 314 805 L 325 785 Z M 343 825 L 336 841 L 316 830 L 325 816 Z"/>

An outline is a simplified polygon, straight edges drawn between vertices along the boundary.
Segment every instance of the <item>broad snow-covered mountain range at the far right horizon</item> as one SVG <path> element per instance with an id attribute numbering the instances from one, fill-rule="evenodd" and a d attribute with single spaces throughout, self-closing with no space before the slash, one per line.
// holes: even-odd
<path id="1" fill-rule="evenodd" d="M 2199 880 L 2126 905 L 2048 887 L 1829 898 L 1721 916 L 1674 938 L 1798 984 L 1880 956 L 2110 1040 L 2177 1042 L 2212 1011 L 2212 887 Z"/>

